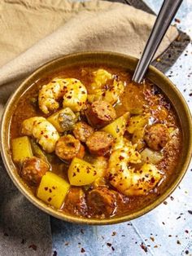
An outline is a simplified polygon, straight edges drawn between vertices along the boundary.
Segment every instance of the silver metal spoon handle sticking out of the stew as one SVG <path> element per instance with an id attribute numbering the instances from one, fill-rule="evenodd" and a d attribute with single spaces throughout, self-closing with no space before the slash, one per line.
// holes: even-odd
<path id="1" fill-rule="evenodd" d="M 140 83 L 182 0 L 164 0 L 132 80 Z"/>

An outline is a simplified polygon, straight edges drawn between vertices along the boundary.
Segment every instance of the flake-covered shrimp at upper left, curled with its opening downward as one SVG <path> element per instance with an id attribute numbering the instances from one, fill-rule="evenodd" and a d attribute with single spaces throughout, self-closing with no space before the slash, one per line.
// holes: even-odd
<path id="1" fill-rule="evenodd" d="M 72 111 L 80 111 L 87 99 L 87 90 L 81 81 L 75 78 L 54 78 L 41 87 L 38 95 L 38 104 L 45 114 L 59 108 L 58 100 L 63 97 L 63 107 Z"/>

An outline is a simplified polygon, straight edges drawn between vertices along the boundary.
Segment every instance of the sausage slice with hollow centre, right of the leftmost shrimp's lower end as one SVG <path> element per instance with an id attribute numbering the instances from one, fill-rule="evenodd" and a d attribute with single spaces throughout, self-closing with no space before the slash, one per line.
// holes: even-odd
<path id="1" fill-rule="evenodd" d="M 76 139 L 72 135 L 64 135 L 59 138 L 58 142 L 56 143 L 55 147 L 55 154 L 62 158 L 63 160 L 72 160 L 73 157 L 84 157 L 85 150 L 82 147 L 81 142 L 79 139 Z"/>

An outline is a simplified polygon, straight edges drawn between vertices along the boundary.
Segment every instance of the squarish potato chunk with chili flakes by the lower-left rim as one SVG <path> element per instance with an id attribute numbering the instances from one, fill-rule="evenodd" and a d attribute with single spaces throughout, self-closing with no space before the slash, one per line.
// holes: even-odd
<path id="1" fill-rule="evenodd" d="M 47 171 L 37 189 L 37 197 L 56 209 L 60 209 L 69 188 L 70 184 L 66 180 Z"/>

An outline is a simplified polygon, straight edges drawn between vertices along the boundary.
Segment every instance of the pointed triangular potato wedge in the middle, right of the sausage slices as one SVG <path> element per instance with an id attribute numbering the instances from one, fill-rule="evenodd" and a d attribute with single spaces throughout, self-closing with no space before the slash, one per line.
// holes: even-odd
<path id="1" fill-rule="evenodd" d="M 112 121 L 111 124 L 103 127 L 102 130 L 112 135 L 114 139 L 117 139 L 118 137 L 124 135 L 128 118 L 129 113 L 125 113 L 123 116 L 117 118 L 115 121 Z"/>

